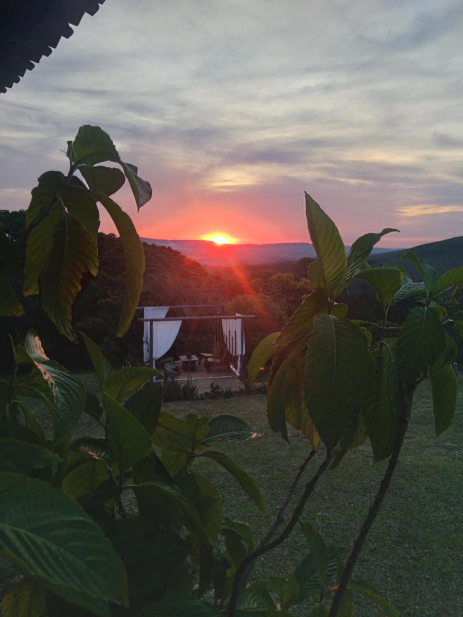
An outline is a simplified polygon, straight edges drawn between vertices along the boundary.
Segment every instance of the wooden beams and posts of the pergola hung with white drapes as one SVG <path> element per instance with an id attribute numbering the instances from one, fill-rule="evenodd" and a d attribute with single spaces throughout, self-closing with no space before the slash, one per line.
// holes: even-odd
<path id="1" fill-rule="evenodd" d="M 188 304 L 188 305 L 172 305 L 169 307 L 165 307 L 167 309 L 183 309 L 183 312 L 185 313 L 185 317 L 142 317 L 139 318 L 138 321 L 140 321 L 141 323 L 145 324 L 148 323 L 149 324 L 149 329 L 148 329 L 148 346 L 149 346 L 149 365 L 154 367 L 155 366 L 155 362 L 156 362 L 156 357 L 154 355 L 154 324 L 155 323 L 159 323 L 159 322 L 173 322 L 173 321 L 204 321 L 204 320 L 209 320 L 209 321 L 222 321 L 222 324 L 224 323 L 224 321 L 230 320 L 231 322 L 233 322 L 234 320 L 236 321 L 241 321 L 241 327 L 240 327 L 240 341 L 236 340 L 236 329 L 235 329 L 235 341 L 226 341 L 227 342 L 227 346 L 230 348 L 231 347 L 231 352 L 230 355 L 232 356 L 237 356 L 238 357 L 238 366 L 240 366 L 240 370 L 236 370 L 236 368 L 230 363 L 230 367 L 231 370 L 233 371 L 233 373 L 235 373 L 236 376 L 238 376 L 239 378 L 241 378 L 241 376 L 243 375 L 243 362 L 242 362 L 242 357 L 243 357 L 243 349 L 244 349 L 244 328 L 242 326 L 243 324 L 243 320 L 248 320 L 248 319 L 254 319 L 256 317 L 256 315 L 193 315 L 193 309 L 223 309 L 225 307 L 225 304 Z M 138 310 L 144 310 L 145 308 L 148 307 L 137 307 Z M 152 308 L 156 308 L 156 307 L 152 307 Z M 180 328 L 180 326 L 179 326 Z M 233 350 L 236 351 L 236 353 L 232 353 Z M 167 350 L 166 350 L 167 351 Z"/>

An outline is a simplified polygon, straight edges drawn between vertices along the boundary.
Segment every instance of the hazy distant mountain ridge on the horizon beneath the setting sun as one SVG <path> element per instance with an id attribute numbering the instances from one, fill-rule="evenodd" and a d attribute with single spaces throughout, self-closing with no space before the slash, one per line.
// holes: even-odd
<path id="1" fill-rule="evenodd" d="M 266 263 L 296 262 L 302 257 L 315 259 L 315 250 L 309 242 L 278 242 L 276 244 L 215 244 L 209 240 L 157 240 L 141 238 L 148 244 L 169 246 L 186 257 L 207 266 L 228 266 L 233 263 L 264 265 Z M 349 252 L 346 246 L 346 252 Z M 390 249 L 373 249 L 373 254 Z"/>

